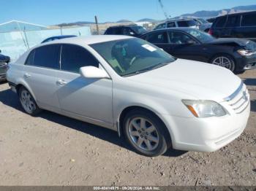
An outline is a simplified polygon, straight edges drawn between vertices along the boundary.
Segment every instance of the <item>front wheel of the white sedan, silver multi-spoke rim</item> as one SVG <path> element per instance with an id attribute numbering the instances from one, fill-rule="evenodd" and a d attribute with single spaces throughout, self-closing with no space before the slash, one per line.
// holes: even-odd
<path id="1" fill-rule="evenodd" d="M 143 109 L 128 112 L 122 127 L 127 142 L 141 155 L 156 157 L 170 147 L 165 124 L 151 112 Z"/>

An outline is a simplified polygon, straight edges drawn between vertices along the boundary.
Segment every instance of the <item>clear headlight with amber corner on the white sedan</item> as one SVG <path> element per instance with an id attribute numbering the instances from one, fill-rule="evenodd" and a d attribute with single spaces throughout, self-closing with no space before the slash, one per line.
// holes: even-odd
<path id="1" fill-rule="evenodd" d="M 182 102 L 195 117 L 221 117 L 227 114 L 225 109 L 215 101 L 182 100 Z"/>

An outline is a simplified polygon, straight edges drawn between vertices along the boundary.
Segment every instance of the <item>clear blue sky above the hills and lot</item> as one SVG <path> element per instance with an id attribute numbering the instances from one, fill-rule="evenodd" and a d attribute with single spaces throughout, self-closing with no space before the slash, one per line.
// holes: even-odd
<path id="1" fill-rule="evenodd" d="M 172 17 L 198 10 L 256 4 L 255 0 L 162 0 Z M 0 0 L 0 23 L 23 20 L 41 25 L 141 18 L 164 19 L 157 0 Z"/>

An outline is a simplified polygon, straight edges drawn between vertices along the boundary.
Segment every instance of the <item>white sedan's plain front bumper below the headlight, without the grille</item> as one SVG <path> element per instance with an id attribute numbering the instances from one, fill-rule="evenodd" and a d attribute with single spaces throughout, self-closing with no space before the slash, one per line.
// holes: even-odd
<path id="1" fill-rule="evenodd" d="M 244 131 L 249 118 L 250 104 L 241 114 L 223 117 L 170 117 L 174 149 L 214 152 L 236 139 Z M 167 116 L 165 116 L 167 117 Z"/>

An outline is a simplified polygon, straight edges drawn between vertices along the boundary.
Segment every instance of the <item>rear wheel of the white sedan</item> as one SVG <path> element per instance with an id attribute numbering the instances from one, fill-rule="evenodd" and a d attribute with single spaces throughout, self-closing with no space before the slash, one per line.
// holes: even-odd
<path id="1" fill-rule="evenodd" d="M 39 109 L 36 101 L 34 101 L 33 96 L 31 95 L 29 90 L 26 89 L 26 87 L 20 87 L 18 90 L 18 95 L 20 104 L 27 114 L 34 116 L 41 112 L 41 109 Z"/>

